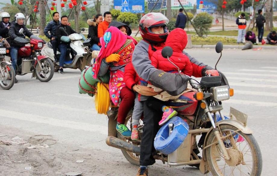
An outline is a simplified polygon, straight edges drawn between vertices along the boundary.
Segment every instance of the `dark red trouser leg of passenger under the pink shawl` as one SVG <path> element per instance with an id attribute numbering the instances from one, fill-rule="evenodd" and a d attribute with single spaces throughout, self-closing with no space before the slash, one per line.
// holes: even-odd
<path id="1" fill-rule="evenodd" d="M 117 122 L 124 124 L 128 112 L 134 107 L 135 94 L 128 87 L 124 87 L 120 91 L 120 100 Z"/>

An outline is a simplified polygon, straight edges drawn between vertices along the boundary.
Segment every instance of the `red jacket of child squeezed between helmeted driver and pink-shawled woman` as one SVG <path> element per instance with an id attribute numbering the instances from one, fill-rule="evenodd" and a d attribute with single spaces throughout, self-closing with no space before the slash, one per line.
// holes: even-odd
<path id="1" fill-rule="evenodd" d="M 133 90 L 132 88 L 134 85 L 139 84 L 139 77 L 133 67 L 132 62 L 125 66 L 124 81 L 126 86 L 131 90 Z"/>

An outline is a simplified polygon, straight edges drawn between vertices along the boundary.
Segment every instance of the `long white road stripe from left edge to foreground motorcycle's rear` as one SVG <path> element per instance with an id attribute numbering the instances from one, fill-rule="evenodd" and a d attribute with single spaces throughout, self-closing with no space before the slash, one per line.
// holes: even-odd
<path id="1" fill-rule="evenodd" d="M 90 132 L 97 132 L 101 134 L 108 134 L 108 127 L 103 125 L 93 125 L 90 123 L 75 122 L 70 120 L 54 119 L 51 117 L 36 116 L 27 113 L 19 113 L 16 111 L 0 110 L 0 116 L 12 119 L 25 120 L 35 123 L 43 123 L 52 126 L 71 128 L 76 130 L 84 130 Z"/>

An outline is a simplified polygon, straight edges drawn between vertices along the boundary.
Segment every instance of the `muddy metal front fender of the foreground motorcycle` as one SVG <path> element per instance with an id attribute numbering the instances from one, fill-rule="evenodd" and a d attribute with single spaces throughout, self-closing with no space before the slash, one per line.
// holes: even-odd
<path id="1" fill-rule="evenodd" d="M 232 125 L 232 126 L 238 128 L 239 130 L 241 130 L 241 132 L 243 132 L 244 134 L 252 134 L 253 133 L 253 131 L 250 128 L 248 128 L 247 126 L 244 126 L 243 123 L 239 122 L 238 120 L 234 120 L 234 119 L 221 120 L 221 121 L 216 123 L 216 127 L 219 127 L 220 125 L 224 125 L 224 124 Z M 207 138 L 212 133 L 212 129 L 213 128 L 210 128 L 210 130 L 207 132 L 207 135 L 206 135 L 205 140 L 204 140 L 203 148 L 207 146 L 207 144 L 206 144 L 207 143 Z M 203 150 L 203 159 L 206 161 L 205 152 L 206 152 L 206 150 Z"/>

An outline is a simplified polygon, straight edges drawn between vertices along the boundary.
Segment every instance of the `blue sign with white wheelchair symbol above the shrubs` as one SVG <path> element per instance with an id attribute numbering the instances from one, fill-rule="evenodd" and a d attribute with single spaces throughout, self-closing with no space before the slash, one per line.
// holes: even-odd
<path id="1" fill-rule="evenodd" d="M 121 12 L 132 12 L 134 14 L 144 13 L 143 0 L 114 0 L 114 8 Z"/>

